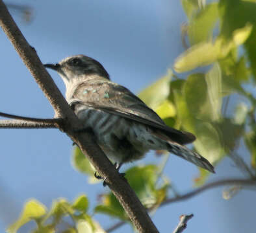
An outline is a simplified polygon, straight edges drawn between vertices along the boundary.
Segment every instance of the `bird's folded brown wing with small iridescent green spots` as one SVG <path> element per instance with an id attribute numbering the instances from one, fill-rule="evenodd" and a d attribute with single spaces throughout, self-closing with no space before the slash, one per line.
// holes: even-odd
<path id="1" fill-rule="evenodd" d="M 74 104 L 73 107 L 80 104 L 86 105 L 160 129 L 170 139 L 180 144 L 190 143 L 196 139 L 192 133 L 166 126 L 159 115 L 147 107 L 140 98 L 122 85 L 113 82 L 101 80 L 81 83 L 75 89 L 70 104 Z"/>

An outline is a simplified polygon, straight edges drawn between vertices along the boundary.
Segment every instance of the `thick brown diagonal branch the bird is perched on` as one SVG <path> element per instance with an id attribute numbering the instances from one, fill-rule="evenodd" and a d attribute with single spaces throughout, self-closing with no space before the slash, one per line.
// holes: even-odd
<path id="1" fill-rule="evenodd" d="M 120 201 L 138 232 L 159 232 L 131 186 L 120 177 L 118 171 L 96 144 L 94 135 L 89 131 L 79 133 L 77 129 L 83 129 L 83 122 L 75 116 L 51 76 L 45 71 L 36 50 L 27 43 L 2 0 L 0 0 L 0 25 L 53 106 L 55 117 L 64 119 L 62 124 L 58 124 L 58 128 L 79 146 L 84 155 L 87 155 L 99 175 L 106 177 L 105 182 Z"/>

